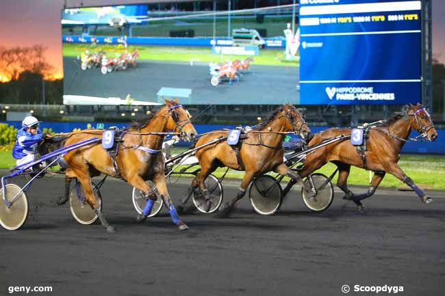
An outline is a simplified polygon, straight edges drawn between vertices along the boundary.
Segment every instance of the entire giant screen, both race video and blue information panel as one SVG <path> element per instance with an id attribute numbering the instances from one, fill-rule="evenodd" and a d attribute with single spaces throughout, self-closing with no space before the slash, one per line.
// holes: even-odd
<path id="1" fill-rule="evenodd" d="M 421 1 L 284 2 L 254 9 L 229 8 L 227 1 L 66 9 L 64 102 L 421 101 Z"/>

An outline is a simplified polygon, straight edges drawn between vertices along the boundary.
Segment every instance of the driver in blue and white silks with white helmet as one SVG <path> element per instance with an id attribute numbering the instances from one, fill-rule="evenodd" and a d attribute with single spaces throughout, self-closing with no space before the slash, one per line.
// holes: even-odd
<path id="1" fill-rule="evenodd" d="M 17 131 L 16 144 L 12 150 L 12 157 L 17 159 L 17 165 L 36 159 L 37 144 L 44 137 L 38 129 L 40 122 L 34 116 L 26 116 L 23 119 L 22 129 Z"/>

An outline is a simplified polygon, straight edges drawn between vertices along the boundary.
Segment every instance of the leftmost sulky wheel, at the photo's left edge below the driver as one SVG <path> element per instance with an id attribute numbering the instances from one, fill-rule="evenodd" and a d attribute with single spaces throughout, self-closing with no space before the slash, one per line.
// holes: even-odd
<path id="1" fill-rule="evenodd" d="M 15 184 L 5 186 L 5 200 L 12 202 L 14 196 L 21 191 L 21 187 Z M 8 207 L 3 202 L 3 189 L 0 189 L 0 224 L 8 230 L 21 228 L 28 217 L 28 200 L 26 194 L 22 191 L 14 199 L 14 202 Z"/>

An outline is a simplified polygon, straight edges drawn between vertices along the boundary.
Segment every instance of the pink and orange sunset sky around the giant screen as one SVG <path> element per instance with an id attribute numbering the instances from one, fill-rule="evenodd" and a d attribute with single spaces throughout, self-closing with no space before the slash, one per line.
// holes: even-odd
<path id="1" fill-rule="evenodd" d="M 81 1 L 68 1 L 75 5 Z M 134 0 L 84 0 L 84 5 L 136 3 Z M 44 44 L 47 60 L 55 68 L 54 77 L 63 76 L 60 15 L 64 0 L 1 0 L 0 44 L 31 46 Z M 433 54 L 445 63 L 445 1 L 433 1 Z"/>

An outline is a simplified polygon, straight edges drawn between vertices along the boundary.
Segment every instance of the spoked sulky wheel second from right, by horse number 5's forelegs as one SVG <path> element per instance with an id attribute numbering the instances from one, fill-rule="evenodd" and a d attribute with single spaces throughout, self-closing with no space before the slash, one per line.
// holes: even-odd
<path id="1" fill-rule="evenodd" d="M 255 212 L 260 215 L 272 215 L 279 210 L 283 202 L 283 189 L 272 176 L 257 176 L 252 180 L 249 198 Z"/>

